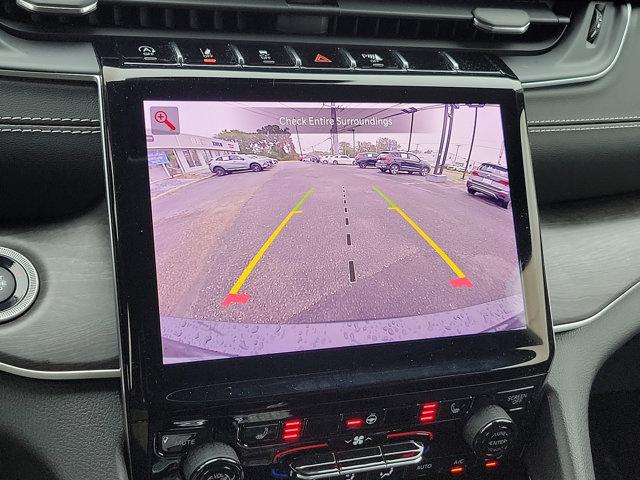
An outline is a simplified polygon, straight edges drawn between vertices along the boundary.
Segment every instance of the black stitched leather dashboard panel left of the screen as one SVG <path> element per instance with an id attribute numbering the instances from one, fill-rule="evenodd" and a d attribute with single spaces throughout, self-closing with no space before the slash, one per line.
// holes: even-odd
<path id="1" fill-rule="evenodd" d="M 0 221 L 85 211 L 104 197 L 97 85 L 0 77 Z"/>

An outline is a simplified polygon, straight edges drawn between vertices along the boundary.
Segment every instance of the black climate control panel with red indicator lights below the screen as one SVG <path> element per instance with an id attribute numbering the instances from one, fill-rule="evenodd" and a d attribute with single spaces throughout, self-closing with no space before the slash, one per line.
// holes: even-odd
<path id="1" fill-rule="evenodd" d="M 152 422 L 152 478 L 516 478 L 540 381 Z"/>

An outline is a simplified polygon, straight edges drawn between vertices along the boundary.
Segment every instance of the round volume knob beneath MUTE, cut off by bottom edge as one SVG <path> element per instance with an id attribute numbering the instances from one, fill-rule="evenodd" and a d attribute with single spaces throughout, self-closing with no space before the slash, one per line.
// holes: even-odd
<path id="1" fill-rule="evenodd" d="M 235 450 L 226 443 L 205 443 L 189 452 L 182 464 L 186 480 L 242 480 Z"/>

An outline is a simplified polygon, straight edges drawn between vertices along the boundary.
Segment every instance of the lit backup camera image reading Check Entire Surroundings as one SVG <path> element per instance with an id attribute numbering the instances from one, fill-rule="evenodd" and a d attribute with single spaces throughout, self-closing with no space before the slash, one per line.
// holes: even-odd
<path id="1" fill-rule="evenodd" d="M 526 327 L 498 105 L 144 111 L 165 364 Z"/>

